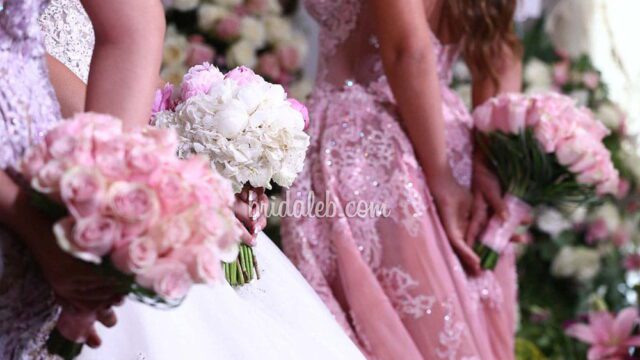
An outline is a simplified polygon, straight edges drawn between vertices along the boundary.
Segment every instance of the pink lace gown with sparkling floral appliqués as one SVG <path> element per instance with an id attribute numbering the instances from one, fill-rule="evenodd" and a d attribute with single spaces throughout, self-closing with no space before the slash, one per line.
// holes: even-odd
<path id="1" fill-rule="evenodd" d="M 372 359 L 511 359 L 516 274 L 511 249 L 468 277 L 441 225 L 382 71 L 362 0 L 306 0 L 321 26 L 309 103 L 312 145 L 290 201 L 313 193 L 338 209 L 384 204 L 389 217 L 291 217 L 285 252 Z M 433 36 L 450 165 L 471 181 L 471 116 L 449 88 L 457 55 Z"/>

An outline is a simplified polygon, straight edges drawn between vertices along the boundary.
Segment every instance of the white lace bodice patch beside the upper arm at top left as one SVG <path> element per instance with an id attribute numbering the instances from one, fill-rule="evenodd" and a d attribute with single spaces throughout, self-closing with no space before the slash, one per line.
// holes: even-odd
<path id="1" fill-rule="evenodd" d="M 47 52 L 86 84 L 95 35 L 80 0 L 52 0 L 40 26 Z"/>

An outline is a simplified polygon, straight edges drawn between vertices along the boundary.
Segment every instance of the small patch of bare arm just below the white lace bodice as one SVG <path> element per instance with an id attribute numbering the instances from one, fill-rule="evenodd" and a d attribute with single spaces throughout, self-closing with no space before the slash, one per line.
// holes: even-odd
<path id="1" fill-rule="evenodd" d="M 49 79 L 56 91 L 62 117 L 69 118 L 84 111 L 87 87 L 71 70 L 47 54 Z"/>

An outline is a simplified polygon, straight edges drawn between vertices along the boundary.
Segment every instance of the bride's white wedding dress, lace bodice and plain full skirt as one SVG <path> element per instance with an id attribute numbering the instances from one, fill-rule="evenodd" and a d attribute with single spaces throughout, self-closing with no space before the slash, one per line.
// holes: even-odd
<path id="1" fill-rule="evenodd" d="M 41 18 L 48 52 L 86 82 L 93 31 L 79 0 L 53 0 Z M 263 234 L 260 280 L 234 290 L 194 286 L 176 309 L 132 300 L 85 360 L 364 359 L 297 269 Z"/>

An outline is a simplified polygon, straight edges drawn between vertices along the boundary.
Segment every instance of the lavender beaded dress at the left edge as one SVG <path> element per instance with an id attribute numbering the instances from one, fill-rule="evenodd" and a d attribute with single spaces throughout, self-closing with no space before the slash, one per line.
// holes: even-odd
<path id="1" fill-rule="evenodd" d="M 0 168 L 8 170 L 60 119 L 38 15 L 48 0 L 0 0 Z M 57 309 L 22 242 L 0 226 L 0 359 L 40 359 Z"/>

